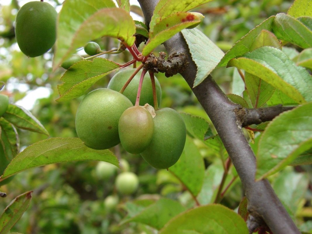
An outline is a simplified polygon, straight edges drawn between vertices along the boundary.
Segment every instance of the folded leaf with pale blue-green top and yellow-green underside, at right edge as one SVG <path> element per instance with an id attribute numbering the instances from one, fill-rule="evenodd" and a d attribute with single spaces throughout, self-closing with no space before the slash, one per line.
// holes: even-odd
<path id="1" fill-rule="evenodd" d="M 278 49 L 269 46 L 260 47 L 243 57 L 232 59 L 229 66 L 235 66 L 260 77 L 298 103 L 312 100 L 310 74 L 304 68 L 296 66 Z"/>

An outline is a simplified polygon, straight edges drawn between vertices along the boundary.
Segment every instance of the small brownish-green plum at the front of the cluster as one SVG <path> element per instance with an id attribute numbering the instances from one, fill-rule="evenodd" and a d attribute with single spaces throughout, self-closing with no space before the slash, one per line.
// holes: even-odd
<path id="1" fill-rule="evenodd" d="M 139 154 L 152 140 L 153 117 L 142 106 L 130 107 L 120 116 L 118 131 L 124 149 L 131 154 Z"/>

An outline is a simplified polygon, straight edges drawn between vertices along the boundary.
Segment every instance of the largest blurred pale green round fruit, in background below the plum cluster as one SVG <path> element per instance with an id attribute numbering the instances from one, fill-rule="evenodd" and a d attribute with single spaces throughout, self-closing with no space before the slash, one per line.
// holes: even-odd
<path id="1" fill-rule="evenodd" d="M 117 176 L 115 186 L 119 193 L 130 195 L 137 190 L 139 179 L 137 175 L 132 172 L 123 172 Z"/>

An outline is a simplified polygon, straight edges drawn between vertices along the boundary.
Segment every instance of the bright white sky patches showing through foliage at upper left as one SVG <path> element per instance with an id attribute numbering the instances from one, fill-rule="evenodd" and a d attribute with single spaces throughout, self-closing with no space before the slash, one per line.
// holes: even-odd
<path id="1" fill-rule="evenodd" d="M 20 0 L 20 1 L 18 1 L 20 6 L 26 4 L 27 2 L 31 2 L 31 0 Z M 56 7 L 56 3 L 53 1 L 46 0 L 45 2 L 49 2 L 52 6 Z M 62 2 L 64 2 L 64 0 L 59 0 L 59 2 L 62 3 Z M 9 5 L 9 4 L 11 4 L 11 0 L 1 0 L 1 5 Z M 139 2 L 137 0 L 130 0 L 130 4 L 131 5 L 139 5 Z M 56 8 L 56 11 L 59 12 L 60 10 L 61 10 L 61 6 L 58 6 Z M 131 14 L 131 16 L 135 20 L 142 21 L 142 18 L 137 16 L 136 14 Z M 17 49 L 19 49 L 19 48 L 17 48 Z M 17 79 L 13 79 L 13 80 L 17 80 Z M 19 83 L 15 83 L 15 82 L 7 83 L 6 89 L 9 91 L 12 91 L 14 89 L 18 89 L 21 92 L 26 91 L 27 95 L 24 98 L 22 98 L 21 100 L 18 100 L 16 102 L 16 104 L 24 107 L 27 110 L 32 110 L 37 99 L 49 97 L 51 92 L 52 92 L 52 90 L 50 88 L 46 88 L 46 87 L 39 87 L 35 90 L 29 90 L 28 85 L 19 84 Z"/>

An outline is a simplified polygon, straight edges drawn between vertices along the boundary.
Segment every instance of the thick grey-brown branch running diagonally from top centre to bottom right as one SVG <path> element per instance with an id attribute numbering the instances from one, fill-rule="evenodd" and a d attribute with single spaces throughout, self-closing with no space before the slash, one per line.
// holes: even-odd
<path id="1" fill-rule="evenodd" d="M 157 2 L 139 0 L 147 24 Z M 182 72 L 182 76 L 192 88 L 197 67 L 191 59 L 184 38 L 178 33 L 166 41 L 164 46 L 169 55 L 173 53 L 188 55 L 188 66 Z M 240 106 L 227 98 L 210 75 L 192 90 L 215 126 L 241 178 L 251 216 L 256 220 L 263 219 L 274 234 L 300 234 L 268 180 L 255 182 L 256 158 L 234 111 Z"/>

